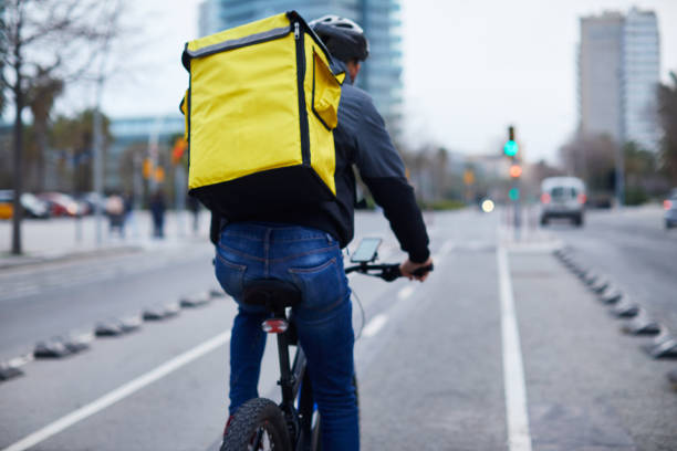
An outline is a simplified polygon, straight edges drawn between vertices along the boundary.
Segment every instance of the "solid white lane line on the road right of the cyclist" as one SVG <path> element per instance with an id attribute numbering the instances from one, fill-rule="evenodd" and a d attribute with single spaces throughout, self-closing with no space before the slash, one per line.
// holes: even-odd
<path id="1" fill-rule="evenodd" d="M 529 416 L 527 413 L 527 388 L 524 366 L 520 347 L 512 282 L 508 266 L 508 254 L 503 247 L 497 251 L 499 291 L 501 297 L 501 334 L 503 346 L 503 387 L 508 420 L 508 444 L 510 451 L 531 451 Z"/>

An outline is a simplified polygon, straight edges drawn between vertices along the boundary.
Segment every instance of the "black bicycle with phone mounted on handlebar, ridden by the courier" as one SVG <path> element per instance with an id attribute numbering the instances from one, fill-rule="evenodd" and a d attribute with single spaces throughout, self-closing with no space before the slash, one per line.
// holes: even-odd
<path id="1" fill-rule="evenodd" d="M 351 258 L 357 263 L 345 269 L 345 273 L 358 272 L 393 282 L 402 276 L 399 264 L 371 264 L 377 259 L 381 239 L 364 239 Z M 433 271 L 433 265 L 419 269 L 415 275 Z M 306 358 L 298 346 L 293 318 L 287 308 L 301 302 L 301 293 L 289 282 L 259 280 L 244 287 L 243 302 L 265 306 L 272 318 L 262 323 L 262 328 L 278 337 L 278 358 L 282 401 L 275 405 L 270 399 L 254 398 L 244 402 L 235 413 L 220 451 L 275 450 L 317 451 L 321 449 L 321 418 L 313 401 L 311 382 L 305 371 Z M 296 354 L 290 365 L 290 346 Z M 353 376 L 357 396 L 357 382 Z"/>

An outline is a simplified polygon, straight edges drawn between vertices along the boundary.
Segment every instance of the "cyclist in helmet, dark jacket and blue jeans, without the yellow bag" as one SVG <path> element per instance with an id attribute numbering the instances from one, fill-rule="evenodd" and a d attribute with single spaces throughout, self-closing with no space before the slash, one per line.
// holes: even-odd
<path id="1" fill-rule="evenodd" d="M 357 406 L 352 385 L 353 344 L 351 290 L 343 271 L 342 249 L 354 233 L 355 176 L 353 165 L 383 208 L 408 259 L 402 273 L 431 263 L 428 235 L 402 158 L 372 98 L 354 87 L 361 63 L 368 56 L 363 30 L 353 21 L 325 15 L 310 25 L 348 80 L 341 91 L 336 149 L 336 199 L 303 209 L 260 211 L 246 218 L 213 218 L 216 275 L 238 302 L 230 342 L 230 407 L 258 397 L 265 334 L 263 307 L 241 304 L 248 281 L 281 279 L 293 283 L 302 302 L 293 310 L 299 340 L 308 356 L 313 396 L 322 416 L 324 450 L 360 449 Z M 228 428 L 228 423 L 226 426 Z"/>

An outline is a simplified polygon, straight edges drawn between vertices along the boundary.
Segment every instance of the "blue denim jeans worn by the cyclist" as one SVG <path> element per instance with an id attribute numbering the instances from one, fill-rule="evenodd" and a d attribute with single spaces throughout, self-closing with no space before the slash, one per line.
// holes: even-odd
<path id="1" fill-rule="evenodd" d="M 265 346 L 261 323 L 270 316 L 263 307 L 242 304 L 242 287 L 257 279 L 289 281 L 302 293 L 293 316 L 322 415 L 322 444 L 327 451 L 358 450 L 351 290 L 338 242 L 305 227 L 229 224 L 217 247 L 216 275 L 238 303 L 230 339 L 230 413 L 259 396 Z"/>

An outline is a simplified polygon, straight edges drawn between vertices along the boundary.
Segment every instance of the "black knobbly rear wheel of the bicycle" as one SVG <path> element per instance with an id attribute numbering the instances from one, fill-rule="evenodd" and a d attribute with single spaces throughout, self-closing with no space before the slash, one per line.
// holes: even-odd
<path id="1" fill-rule="evenodd" d="M 256 398 L 236 412 L 220 451 L 292 451 L 280 408 L 270 399 Z"/>

